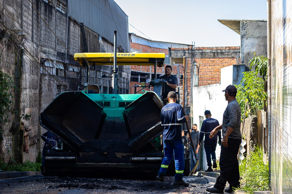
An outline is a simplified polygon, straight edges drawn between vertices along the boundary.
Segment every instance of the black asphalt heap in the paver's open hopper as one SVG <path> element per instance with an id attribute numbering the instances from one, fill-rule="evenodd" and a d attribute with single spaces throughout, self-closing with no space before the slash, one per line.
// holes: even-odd
<path id="1" fill-rule="evenodd" d="M 130 156 L 117 156 L 116 153 L 131 153 L 128 143 L 122 140 L 91 140 L 79 147 L 79 163 L 130 163 Z M 86 153 L 86 154 L 84 154 Z M 126 154 L 123 154 L 126 155 Z"/>

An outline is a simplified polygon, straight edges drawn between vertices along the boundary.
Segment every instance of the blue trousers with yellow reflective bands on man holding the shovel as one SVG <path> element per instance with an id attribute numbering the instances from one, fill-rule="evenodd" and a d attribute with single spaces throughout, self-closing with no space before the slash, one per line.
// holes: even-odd
<path id="1" fill-rule="evenodd" d="M 161 163 L 161 168 L 158 175 L 165 175 L 171 159 L 174 154 L 175 162 L 175 180 L 183 178 L 183 171 L 185 169 L 184 147 L 182 140 L 163 140 L 164 158 Z"/>

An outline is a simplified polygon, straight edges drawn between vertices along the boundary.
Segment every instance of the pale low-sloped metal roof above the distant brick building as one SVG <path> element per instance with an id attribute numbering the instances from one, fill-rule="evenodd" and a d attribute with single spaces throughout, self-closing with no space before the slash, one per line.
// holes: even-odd
<path id="1" fill-rule="evenodd" d="M 160 48 L 160 49 L 168 49 L 168 47 L 188 47 L 191 45 L 187 44 L 180 44 L 180 43 L 174 43 L 174 42 L 161 42 L 161 41 L 155 41 L 155 40 L 149 40 L 146 38 L 143 38 L 141 36 L 131 34 L 131 42 L 140 44 L 140 45 L 146 45 L 154 48 Z"/>

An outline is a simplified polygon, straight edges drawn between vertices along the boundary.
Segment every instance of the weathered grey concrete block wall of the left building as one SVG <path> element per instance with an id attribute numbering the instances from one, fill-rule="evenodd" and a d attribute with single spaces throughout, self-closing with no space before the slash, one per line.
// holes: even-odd
<path id="1" fill-rule="evenodd" d="M 67 9 L 60 9 L 60 3 L 67 8 L 67 0 L 0 2 L 0 68 L 12 76 L 18 88 L 11 90 L 13 108 L 31 115 L 29 121 L 11 115 L 3 127 L 3 161 L 36 161 L 43 146 L 40 136 L 45 132 L 39 126 L 39 114 L 59 93 L 77 90 L 86 81 L 86 70 L 74 61 L 74 53 L 113 52 L 111 42 L 81 25 L 82 21 L 67 17 Z M 124 50 L 118 48 L 118 52 Z M 102 79 L 103 74 L 112 74 L 112 67 L 91 67 L 90 83 L 106 92 L 111 80 Z M 119 66 L 119 91 L 128 88 L 129 77 L 130 67 Z"/>

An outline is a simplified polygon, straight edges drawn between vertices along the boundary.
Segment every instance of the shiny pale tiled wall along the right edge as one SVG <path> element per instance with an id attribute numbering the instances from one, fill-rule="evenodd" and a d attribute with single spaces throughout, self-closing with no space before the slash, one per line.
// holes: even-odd
<path id="1" fill-rule="evenodd" d="M 292 3 L 272 0 L 271 187 L 292 191 Z"/>

